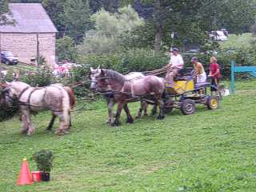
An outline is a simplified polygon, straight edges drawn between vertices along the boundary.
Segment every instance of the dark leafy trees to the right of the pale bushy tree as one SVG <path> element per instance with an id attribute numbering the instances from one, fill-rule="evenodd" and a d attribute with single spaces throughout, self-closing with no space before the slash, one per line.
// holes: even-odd
<path id="1" fill-rule="evenodd" d="M 123 4 L 133 3 L 133 0 L 123 0 Z M 146 20 L 147 33 L 154 50 L 174 43 L 203 43 L 205 31 L 226 28 L 232 33 L 242 33 L 248 30 L 255 19 L 255 2 L 250 0 L 142 0 L 151 6 L 152 17 Z M 140 10 L 138 9 L 138 12 Z M 175 32 L 176 38 L 170 34 Z M 145 31 L 141 35 L 144 37 Z M 154 34 L 154 42 L 151 38 Z M 145 42 L 145 40 L 143 40 Z"/>

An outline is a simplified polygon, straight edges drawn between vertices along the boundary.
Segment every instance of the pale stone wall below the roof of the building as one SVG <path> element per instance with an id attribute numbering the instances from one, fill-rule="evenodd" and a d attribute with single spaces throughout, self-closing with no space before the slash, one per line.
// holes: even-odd
<path id="1" fill-rule="evenodd" d="M 1 32 L 0 32 L 1 33 Z M 55 63 L 55 34 L 38 34 L 39 54 L 49 65 Z M 1 33 L 2 50 L 10 50 L 19 62 L 37 65 L 37 34 Z"/>

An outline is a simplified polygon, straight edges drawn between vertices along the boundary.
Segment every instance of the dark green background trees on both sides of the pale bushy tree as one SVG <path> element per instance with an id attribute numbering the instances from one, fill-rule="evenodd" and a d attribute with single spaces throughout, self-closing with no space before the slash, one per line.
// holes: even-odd
<path id="1" fill-rule="evenodd" d="M 4 1 L 3 1 L 4 2 Z M 134 34 L 140 47 L 162 50 L 171 44 L 203 44 L 206 31 L 226 28 L 232 33 L 248 31 L 254 23 L 255 1 L 251 0 L 11 0 L 10 2 L 42 2 L 59 33 L 81 42 L 91 30 L 90 14 L 104 8 L 115 13 L 124 5 L 132 5 L 146 24 Z M 1 6 L 2 7 L 2 6 Z M 175 38 L 170 34 L 175 33 Z M 130 42 L 127 42 L 129 46 Z M 132 43 L 131 43 L 132 44 Z"/>

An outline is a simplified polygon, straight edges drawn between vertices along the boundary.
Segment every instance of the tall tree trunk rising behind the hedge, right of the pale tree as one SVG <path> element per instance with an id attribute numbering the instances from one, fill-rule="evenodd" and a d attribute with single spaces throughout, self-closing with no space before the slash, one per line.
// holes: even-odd
<path id="1" fill-rule="evenodd" d="M 161 2 L 154 0 L 154 22 L 156 24 L 156 34 L 154 38 L 154 52 L 159 52 L 162 42 L 162 19 L 161 19 Z"/>

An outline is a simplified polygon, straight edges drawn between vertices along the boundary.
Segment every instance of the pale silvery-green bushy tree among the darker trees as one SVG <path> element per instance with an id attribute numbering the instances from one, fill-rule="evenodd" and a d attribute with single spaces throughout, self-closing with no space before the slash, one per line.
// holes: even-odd
<path id="1" fill-rule="evenodd" d="M 91 16 L 94 29 L 88 30 L 84 41 L 79 46 L 82 54 L 110 54 L 123 51 L 123 42 L 130 38 L 130 32 L 137 26 L 142 26 L 144 20 L 131 6 L 118 9 L 111 14 L 106 10 L 100 10 Z"/>

